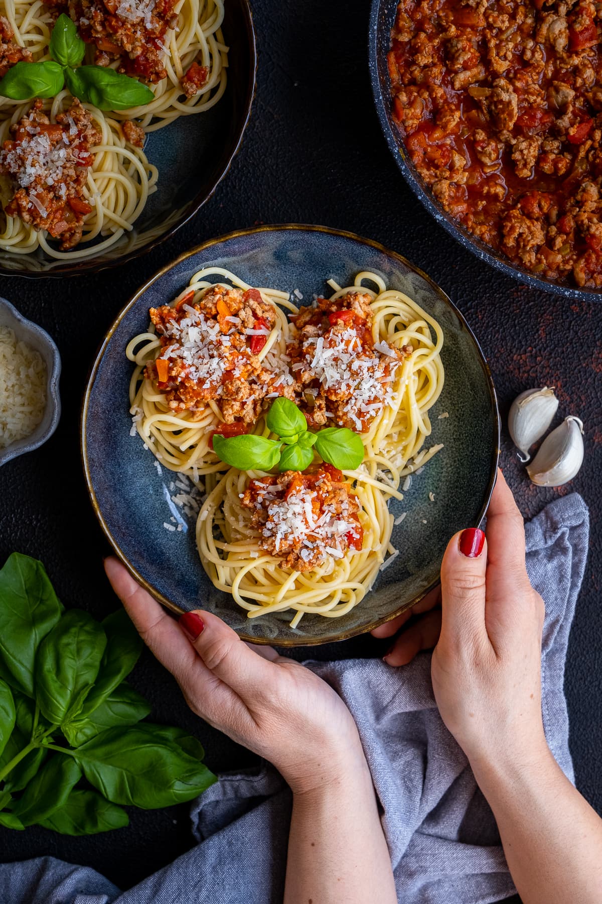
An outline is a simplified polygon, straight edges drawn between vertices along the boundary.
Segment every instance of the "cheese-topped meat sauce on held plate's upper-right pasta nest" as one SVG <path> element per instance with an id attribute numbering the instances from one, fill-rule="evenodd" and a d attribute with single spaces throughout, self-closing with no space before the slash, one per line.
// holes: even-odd
<path id="1" fill-rule="evenodd" d="M 338 424 L 366 432 L 393 398 L 395 372 L 412 348 L 374 343 L 370 300 L 359 292 L 318 298 L 292 318 L 296 336 L 288 354 L 311 429 Z"/>

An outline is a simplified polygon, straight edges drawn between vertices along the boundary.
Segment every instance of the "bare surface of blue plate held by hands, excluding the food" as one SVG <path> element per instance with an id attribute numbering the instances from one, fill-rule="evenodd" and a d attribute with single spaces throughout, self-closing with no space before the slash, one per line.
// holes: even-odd
<path id="1" fill-rule="evenodd" d="M 254 286 L 293 291 L 305 299 L 322 293 L 326 280 L 348 285 L 360 270 L 375 270 L 387 285 L 415 298 L 443 327 L 445 385 L 431 412 L 430 443 L 445 444 L 403 503 L 394 528 L 401 551 L 375 589 L 340 618 L 305 616 L 298 628 L 290 614 L 246 617 L 216 590 L 200 564 L 194 520 L 171 504 L 173 475 L 156 466 L 142 440 L 130 437 L 128 384 L 132 364 L 125 346 L 148 326 L 148 309 L 169 302 L 201 267 L 234 270 Z M 218 281 L 218 277 L 216 277 Z M 438 419 L 438 413 L 449 417 Z M 499 416 L 489 369 L 458 309 L 424 273 L 381 245 L 319 226 L 264 226 L 208 241 L 162 269 L 125 306 L 92 367 L 81 420 L 88 489 L 108 540 L 153 596 L 178 611 L 209 608 L 247 640 L 279 645 L 321 644 L 369 631 L 412 606 L 439 580 L 440 561 L 452 533 L 477 525 L 486 512 L 498 457 Z M 178 490 L 176 489 L 176 493 Z M 434 502 L 429 494 L 434 494 Z M 171 521 L 173 519 L 173 521 Z M 170 531 L 164 523 L 182 523 Z"/>

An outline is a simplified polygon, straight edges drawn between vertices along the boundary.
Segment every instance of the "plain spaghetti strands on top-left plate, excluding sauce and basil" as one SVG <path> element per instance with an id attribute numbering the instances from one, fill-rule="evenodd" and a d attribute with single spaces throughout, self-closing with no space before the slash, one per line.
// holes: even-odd
<path id="1" fill-rule="evenodd" d="M 52 4 L 55 6 L 56 3 Z M 138 12 L 137 0 L 127 3 L 122 0 L 118 9 L 122 6 L 134 10 L 134 17 Z M 149 4 L 147 0 L 142 4 L 141 12 L 143 7 L 149 6 L 153 3 Z M 51 12 L 51 5 L 40 0 L 0 0 L 0 15 L 5 17 L 13 32 L 11 43 L 22 48 L 29 60 L 50 60 L 49 44 L 56 17 Z M 53 259 L 83 259 L 107 250 L 124 234 L 133 231 L 148 196 L 156 191 L 158 179 L 156 167 L 149 163 L 139 146 L 144 143 L 144 132 L 167 126 L 180 116 L 208 110 L 218 103 L 226 89 L 227 47 L 221 32 L 223 18 L 223 0 L 178 0 L 170 20 L 172 27 L 162 40 L 161 61 L 166 75 L 156 84 L 149 85 L 154 99 L 144 107 L 111 113 L 84 104 L 101 135 L 101 142 L 91 148 L 93 165 L 88 169 L 83 192 L 91 212 L 85 217 L 79 247 L 58 250 L 43 229 L 37 230 L 31 222 L 5 213 L 5 222 L 0 228 L 0 249 L 23 255 L 41 248 Z M 94 46 L 88 46 L 85 61 L 94 61 L 94 53 Z M 117 69 L 120 61 L 115 59 L 108 64 Z M 187 82 L 188 72 L 194 73 L 194 79 L 190 76 Z M 190 85 L 194 93 L 187 96 Z M 43 102 L 43 110 L 55 123 L 56 116 L 69 109 L 70 102 L 69 92 L 62 90 L 55 98 Z M 10 127 L 22 119 L 31 106 L 31 101 L 23 103 L 0 98 L 0 143 L 11 138 Z M 3 209 L 11 200 L 10 192 L 7 176 L 0 176 Z"/>

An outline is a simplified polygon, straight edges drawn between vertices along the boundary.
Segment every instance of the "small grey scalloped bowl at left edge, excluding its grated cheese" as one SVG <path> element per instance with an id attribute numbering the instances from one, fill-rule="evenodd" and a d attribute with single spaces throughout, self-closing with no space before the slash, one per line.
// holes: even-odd
<path id="1" fill-rule="evenodd" d="M 28 437 L 17 439 L 10 446 L 0 449 L 0 466 L 5 465 L 11 458 L 23 455 L 23 452 L 32 452 L 50 439 L 57 428 L 60 419 L 60 354 L 48 333 L 42 330 L 42 326 L 32 323 L 17 309 L 0 298 L 0 326 L 8 326 L 14 331 L 18 340 L 30 345 L 36 352 L 42 355 L 46 364 L 46 410 L 38 426 Z"/>

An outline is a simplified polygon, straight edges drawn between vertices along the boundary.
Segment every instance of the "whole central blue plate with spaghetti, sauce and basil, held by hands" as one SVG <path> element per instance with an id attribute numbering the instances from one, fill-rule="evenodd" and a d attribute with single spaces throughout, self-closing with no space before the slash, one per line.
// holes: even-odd
<path id="1" fill-rule="evenodd" d="M 108 334 L 82 414 L 92 502 L 134 576 L 280 645 L 421 598 L 486 511 L 498 436 L 449 298 L 320 227 L 238 232 L 162 270 Z"/>

